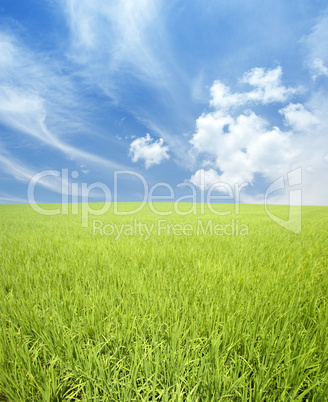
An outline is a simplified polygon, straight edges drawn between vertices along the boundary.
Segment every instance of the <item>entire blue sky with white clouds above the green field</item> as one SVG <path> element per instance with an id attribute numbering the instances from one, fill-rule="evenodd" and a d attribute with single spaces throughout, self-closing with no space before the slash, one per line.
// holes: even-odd
<path id="1" fill-rule="evenodd" d="M 119 170 L 150 186 L 247 182 L 242 200 L 256 203 L 301 167 L 303 203 L 327 205 L 326 7 L 1 0 L 0 202 L 26 202 L 36 173 L 68 169 L 110 188 Z M 141 197 L 132 176 L 119 188 Z M 36 199 L 61 192 L 45 177 Z"/>

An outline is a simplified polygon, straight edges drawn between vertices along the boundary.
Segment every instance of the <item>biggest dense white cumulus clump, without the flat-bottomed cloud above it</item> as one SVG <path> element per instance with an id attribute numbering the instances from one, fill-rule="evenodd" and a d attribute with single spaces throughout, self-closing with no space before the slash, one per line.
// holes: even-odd
<path id="1" fill-rule="evenodd" d="M 261 172 L 270 176 L 281 172 L 295 155 L 289 134 L 254 112 L 235 118 L 222 112 L 203 114 L 196 123 L 197 131 L 190 141 L 199 153 L 212 156 L 222 173 L 220 181 L 229 185 L 252 183 Z"/>

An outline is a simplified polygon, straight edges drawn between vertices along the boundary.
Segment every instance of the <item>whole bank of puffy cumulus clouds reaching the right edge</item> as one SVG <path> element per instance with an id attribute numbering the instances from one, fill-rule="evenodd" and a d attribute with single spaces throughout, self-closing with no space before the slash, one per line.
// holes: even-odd
<path id="1" fill-rule="evenodd" d="M 286 129 L 272 125 L 267 118 L 252 110 L 239 113 L 232 107 L 239 103 L 248 104 L 250 100 L 263 104 L 288 101 L 294 90 L 282 84 L 281 76 L 280 67 L 267 72 L 258 68 L 251 70 L 243 76 L 243 82 L 256 87 L 251 93 L 234 94 L 219 81 L 214 82 L 211 105 L 215 110 L 203 113 L 197 119 L 190 140 L 198 155 L 197 160 L 201 160 L 201 168 L 191 176 L 191 183 L 202 189 L 218 182 L 230 187 L 249 183 L 254 185 L 254 189 L 258 188 L 258 180 L 261 186 L 268 186 L 293 169 L 302 167 L 303 202 L 319 205 L 327 202 L 328 191 L 322 185 L 328 174 L 325 163 L 328 119 L 322 111 L 327 99 L 320 94 L 313 95 L 307 104 L 287 103 L 279 111 L 281 126 L 285 125 Z M 218 91 L 221 91 L 221 97 L 215 98 Z M 204 170 L 202 161 L 210 163 L 211 169 Z M 202 177 L 205 184 L 200 180 Z M 244 194 L 247 202 L 263 200 L 260 194 Z M 279 197 L 276 196 L 276 202 L 282 200 Z M 288 199 L 287 191 L 285 199 Z"/>

